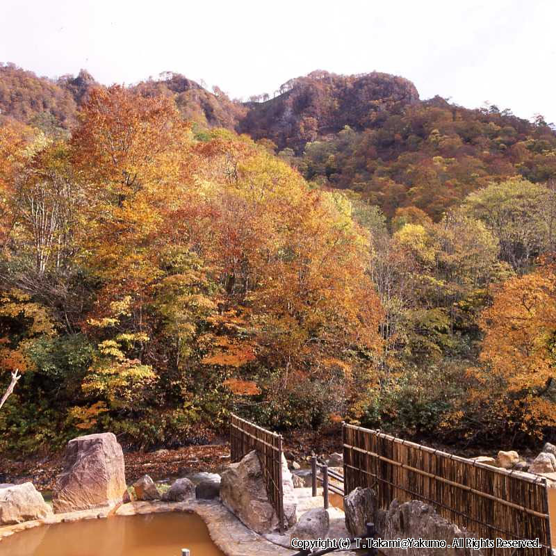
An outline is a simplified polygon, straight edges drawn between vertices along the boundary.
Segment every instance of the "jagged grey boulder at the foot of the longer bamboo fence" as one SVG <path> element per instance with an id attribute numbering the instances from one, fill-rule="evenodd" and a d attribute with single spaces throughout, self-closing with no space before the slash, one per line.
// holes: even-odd
<path id="1" fill-rule="evenodd" d="M 444 540 L 450 548 L 381 548 L 386 556 L 481 556 L 480 550 L 455 546 L 455 539 L 473 537 L 468 531 L 439 516 L 424 502 L 411 500 L 400 504 L 393 500 L 387 512 L 379 511 L 377 536 L 381 539 Z"/>

